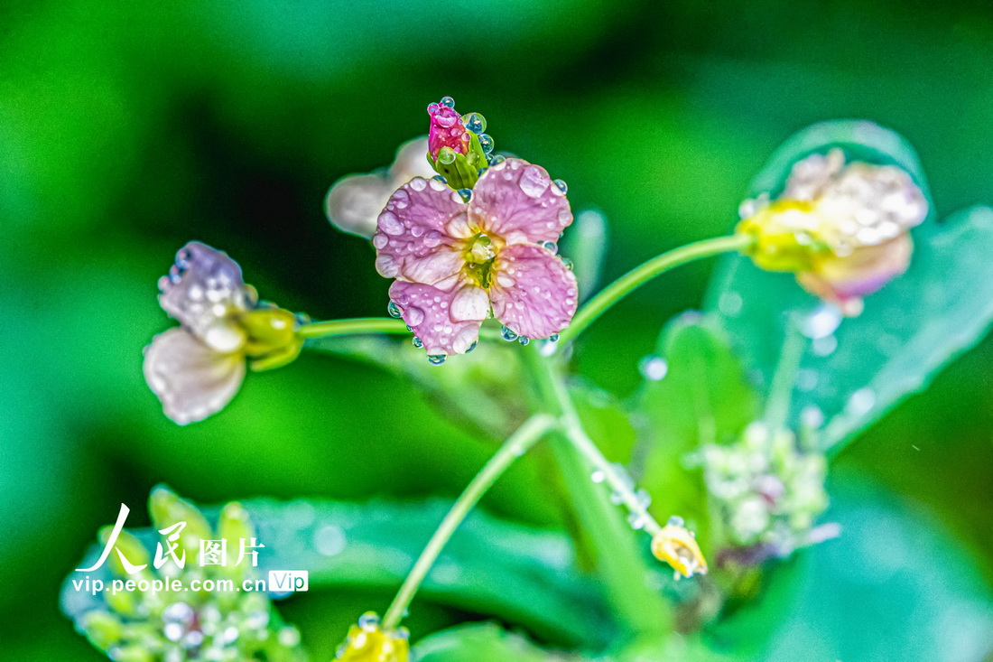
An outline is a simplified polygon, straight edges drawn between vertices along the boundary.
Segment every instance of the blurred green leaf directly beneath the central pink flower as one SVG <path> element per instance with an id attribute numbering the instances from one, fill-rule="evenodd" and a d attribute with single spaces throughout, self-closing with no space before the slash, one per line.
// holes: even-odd
<path id="1" fill-rule="evenodd" d="M 308 349 L 374 365 L 410 380 L 443 412 L 473 432 L 506 438 L 527 417 L 520 387 L 517 345 L 480 341 L 469 354 L 441 366 L 428 363 L 423 349 L 410 342 L 376 336 L 310 340 Z"/>

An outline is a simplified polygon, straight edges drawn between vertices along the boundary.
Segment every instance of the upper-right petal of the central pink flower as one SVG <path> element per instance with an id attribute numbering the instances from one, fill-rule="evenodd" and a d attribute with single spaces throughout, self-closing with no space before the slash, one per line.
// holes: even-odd
<path id="1" fill-rule="evenodd" d="M 473 189 L 470 216 L 507 244 L 557 242 L 572 223 L 569 200 L 541 166 L 507 159 L 487 169 Z"/>

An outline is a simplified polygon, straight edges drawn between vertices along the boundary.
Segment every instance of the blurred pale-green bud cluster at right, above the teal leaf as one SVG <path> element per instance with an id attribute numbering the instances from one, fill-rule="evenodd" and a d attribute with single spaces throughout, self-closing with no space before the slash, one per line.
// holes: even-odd
<path id="1" fill-rule="evenodd" d="M 786 557 L 830 537 L 813 527 L 827 507 L 827 463 L 801 451 L 791 432 L 752 423 L 737 443 L 707 445 L 702 456 L 707 491 L 732 542 L 753 548 L 754 558 Z"/>

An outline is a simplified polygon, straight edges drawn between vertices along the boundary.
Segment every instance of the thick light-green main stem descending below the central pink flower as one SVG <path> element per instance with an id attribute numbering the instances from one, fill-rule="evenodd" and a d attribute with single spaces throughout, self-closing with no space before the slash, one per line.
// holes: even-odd
<path id="1" fill-rule="evenodd" d="M 669 630 L 670 615 L 665 602 L 646 583 L 645 555 L 638 549 L 632 530 L 619 517 L 608 493 L 591 476 L 602 471 L 605 480 L 624 497 L 625 503 L 636 506 L 636 512 L 646 516 L 644 521 L 652 523 L 646 524 L 646 528 L 652 530 L 658 525 L 644 512 L 643 505 L 638 503 L 637 495 L 620 476 L 617 467 L 583 431 L 561 376 L 551 366 L 552 360 L 540 356 L 533 346 L 523 348 L 520 354 L 537 387 L 542 408 L 560 419 L 559 438 L 552 444 L 552 450 L 614 610 L 638 636 L 664 637 Z"/>

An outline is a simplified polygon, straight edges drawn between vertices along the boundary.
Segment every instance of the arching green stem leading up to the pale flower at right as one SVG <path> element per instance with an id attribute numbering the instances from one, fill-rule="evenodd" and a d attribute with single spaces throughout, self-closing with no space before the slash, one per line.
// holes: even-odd
<path id="1" fill-rule="evenodd" d="M 611 306 L 655 276 L 661 275 L 675 266 L 692 262 L 696 259 L 747 248 L 753 242 L 754 240 L 751 237 L 743 235 L 717 237 L 715 239 L 703 240 L 679 248 L 673 248 L 652 257 L 600 290 L 596 296 L 587 301 L 586 305 L 573 317 L 569 327 L 559 335 L 559 347 L 565 347 L 566 344 L 585 331 L 586 327 L 593 324 L 598 317 L 607 312 Z"/>

